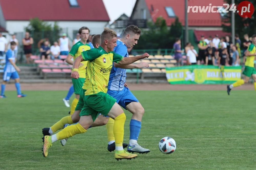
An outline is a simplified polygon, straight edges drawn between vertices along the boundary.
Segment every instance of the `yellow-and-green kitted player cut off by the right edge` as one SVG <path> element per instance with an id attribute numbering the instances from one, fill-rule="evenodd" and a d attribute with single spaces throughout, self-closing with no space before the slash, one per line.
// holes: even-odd
<path id="1" fill-rule="evenodd" d="M 228 95 L 230 93 L 230 90 L 233 87 L 237 87 L 237 86 L 241 86 L 244 83 L 247 83 L 250 79 L 250 77 L 252 76 L 253 80 L 254 80 L 254 89 L 256 90 L 256 71 L 254 68 L 254 59 L 256 56 L 256 34 L 254 34 L 252 36 L 252 44 L 247 48 L 246 52 L 245 52 L 245 56 L 246 56 L 246 62 L 244 63 L 244 71 L 243 71 L 243 75 L 244 75 L 244 79 L 238 80 L 237 82 L 228 85 L 227 89 L 228 89 Z"/>

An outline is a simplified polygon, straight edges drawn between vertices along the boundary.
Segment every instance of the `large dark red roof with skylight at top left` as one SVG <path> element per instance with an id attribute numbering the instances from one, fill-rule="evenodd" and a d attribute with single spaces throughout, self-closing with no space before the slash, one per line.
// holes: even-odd
<path id="1" fill-rule="evenodd" d="M 5 20 L 110 21 L 102 0 L 77 2 L 78 8 L 68 0 L 0 0 Z"/>

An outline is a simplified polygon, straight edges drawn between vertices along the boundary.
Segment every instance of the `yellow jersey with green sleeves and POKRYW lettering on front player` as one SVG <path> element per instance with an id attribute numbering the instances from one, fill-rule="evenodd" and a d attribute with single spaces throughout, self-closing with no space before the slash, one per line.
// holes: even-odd
<path id="1" fill-rule="evenodd" d="M 85 81 L 83 89 L 87 89 L 85 95 L 97 94 L 100 91 L 107 93 L 109 75 L 113 62 L 118 63 L 123 59 L 113 51 L 107 53 L 102 47 L 93 48 L 82 52 L 82 57 L 87 63 L 88 80 Z M 88 87 L 86 84 L 88 82 Z"/>

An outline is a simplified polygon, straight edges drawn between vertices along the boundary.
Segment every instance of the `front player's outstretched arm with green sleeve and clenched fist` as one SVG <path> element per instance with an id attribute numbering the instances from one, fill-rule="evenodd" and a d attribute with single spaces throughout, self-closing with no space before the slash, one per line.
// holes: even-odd
<path id="1" fill-rule="evenodd" d="M 121 55 L 114 53 L 113 61 L 121 65 L 128 65 L 128 64 L 134 63 L 135 61 L 148 58 L 148 57 L 149 57 L 149 54 L 147 53 L 144 53 L 143 55 L 135 56 L 135 57 L 122 57 Z"/>

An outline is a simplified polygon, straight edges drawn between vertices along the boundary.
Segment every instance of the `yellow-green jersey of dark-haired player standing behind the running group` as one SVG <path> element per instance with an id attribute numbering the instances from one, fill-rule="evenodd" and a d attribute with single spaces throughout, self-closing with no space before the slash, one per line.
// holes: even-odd
<path id="1" fill-rule="evenodd" d="M 91 49 L 89 44 L 83 44 L 81 41 L 78 41 L 76 44 L 74 44 L 69 52 L 71 56 L 76 59 L 78 56 L 81 55 L 83 51 Z M 87 61 L 81 62 L 83 64 L 83 67 L 78 68 L 78 73 L 80 78 L 85 78 L 86 74 L 86 66 L 87 66 Z"/>

